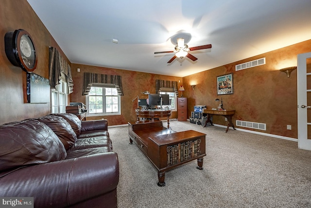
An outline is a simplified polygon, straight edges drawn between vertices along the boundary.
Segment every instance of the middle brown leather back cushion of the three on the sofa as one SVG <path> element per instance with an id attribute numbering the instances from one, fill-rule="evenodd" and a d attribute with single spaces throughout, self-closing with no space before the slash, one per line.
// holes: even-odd
<path id="1" fill-rule="evenodd" d="M 77 135 L 73 132 L 70 124 L 57 115 L 45 115 L 37 118 L 38 121 L 45 123 L 58 136 L 66 150 L 77 141 Z"/>

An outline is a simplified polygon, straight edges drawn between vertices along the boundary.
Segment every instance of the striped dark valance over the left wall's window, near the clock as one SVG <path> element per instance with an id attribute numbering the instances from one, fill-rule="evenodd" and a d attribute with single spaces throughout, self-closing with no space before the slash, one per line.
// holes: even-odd
<path id="1" fill-rule="evenodd" d="M 54 47 L 49 50 L 49 79 L 52 89 L 60 84 L 61 74 L 64 73 L 68 83 L 69 94 L 73 92 L 73 80 L 71 76 L 71 68 L 64 57 Z"/>

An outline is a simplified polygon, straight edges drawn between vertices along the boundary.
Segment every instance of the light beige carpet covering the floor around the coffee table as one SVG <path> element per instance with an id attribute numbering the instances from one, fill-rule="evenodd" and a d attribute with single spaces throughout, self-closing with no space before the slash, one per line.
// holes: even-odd
<path id="1" fill-rule="evenodd" d="M 158 187 L 157 170 L 129 144 L 128 127 L 109 128 L 120 162 L 119 208 L 311 207 L 311 151 L 297 142 L 190 122 L 170 127 L 207 134 L 204 170 L 191 161 L 167 171 Z"/>

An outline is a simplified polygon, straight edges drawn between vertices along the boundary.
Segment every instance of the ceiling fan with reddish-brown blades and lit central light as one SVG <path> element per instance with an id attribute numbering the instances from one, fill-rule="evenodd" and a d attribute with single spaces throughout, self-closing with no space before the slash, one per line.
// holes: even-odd
<path id="1" fill-rule="evenodd" d="M 176 53 L 173 58 L 171 58 L 168 63 L 171 63 L 176 57 L 178 58 L 183 58 L 183 57 L 188 57 L 192 61 L 197 60 L 198 58 L 192 56 L 189 54 L 189 51 L 196 51 L 196 50 L 201 50 L 201 49 L 208 49 L 211 48 L 212 45 L 201 45 L 201 46 L 196 46 L 196 47 L 191 47 L 188 48 L 188 45 L 185 44 L 185 39 L 184 38 L 177 38 L 177 45 L 175 46 L 175 51 L 161 51 L 161 52 L 155 52 L 155 54 L 164 54 L 164 53 Z"/>

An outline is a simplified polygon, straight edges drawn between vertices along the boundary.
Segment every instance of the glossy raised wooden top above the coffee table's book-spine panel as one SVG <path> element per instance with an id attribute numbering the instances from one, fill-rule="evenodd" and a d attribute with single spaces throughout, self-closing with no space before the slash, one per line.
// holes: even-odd
<path id="1" fill-rule="evenodd" d="M 157 145 L 167 145 L 167 144 L 174 144 L 180 143 L 183 141 L 191 140 L 192 138 L 199 137 L 199 136 L 206 136 L 205 133 L 196 132 L 193 130 L 188 130 L 184 132 L 174 132 L 169 134 L 163 135 L 150 135 L 149 138 L 154 141 Z"/>

